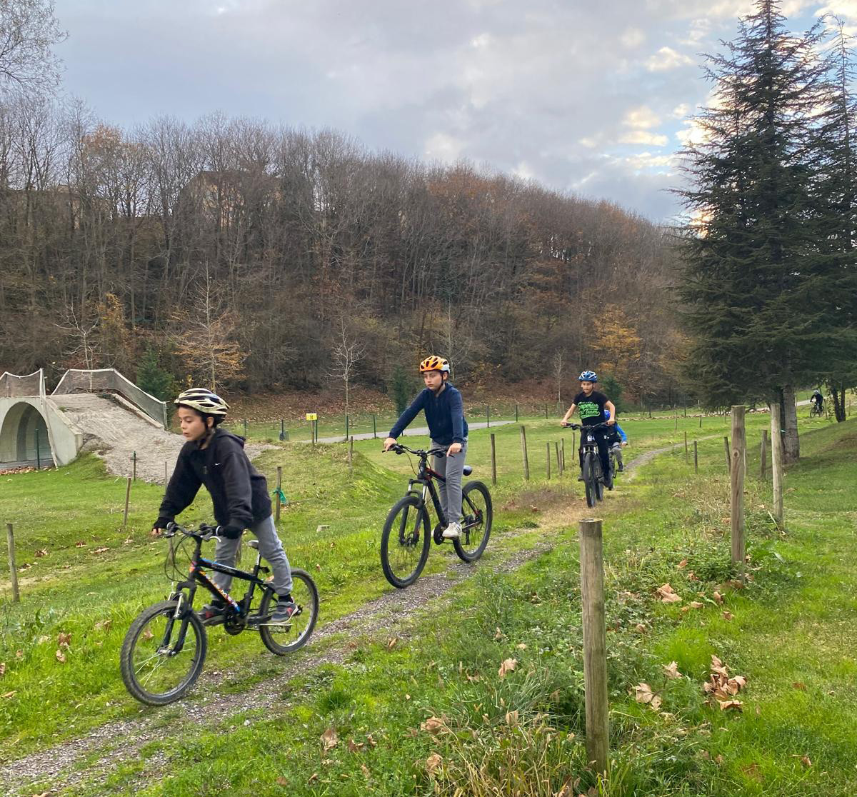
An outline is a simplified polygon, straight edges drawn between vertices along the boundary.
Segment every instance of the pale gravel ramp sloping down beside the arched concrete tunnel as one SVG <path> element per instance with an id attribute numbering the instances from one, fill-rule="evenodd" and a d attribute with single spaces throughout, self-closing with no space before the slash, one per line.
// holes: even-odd
<path id="1" fill-rule="evenodd" d="M 107 470 L 130 476 L 136 452 L 137 478 L 164 482 L 172 474 L 184 438 L 159 424 L 121 397 L 67 393 L 51 397 L 63 416 L 83 435 L 83 447 L 105 460 Z"/>

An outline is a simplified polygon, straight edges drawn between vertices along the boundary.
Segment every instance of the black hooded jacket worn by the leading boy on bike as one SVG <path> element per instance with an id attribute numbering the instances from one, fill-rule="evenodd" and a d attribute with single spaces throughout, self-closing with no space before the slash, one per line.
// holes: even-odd
<path id="1" fill-rule="evenodd" d="M 195 499 L 204 484 L 220 525 L 247 529 L 271 514 L 267 481 L 244 452 L 244 438 L 216 428 L 208 446 L 195 440 L 182 446 L 161 503 L 158 525 L 164 528 Z"/>

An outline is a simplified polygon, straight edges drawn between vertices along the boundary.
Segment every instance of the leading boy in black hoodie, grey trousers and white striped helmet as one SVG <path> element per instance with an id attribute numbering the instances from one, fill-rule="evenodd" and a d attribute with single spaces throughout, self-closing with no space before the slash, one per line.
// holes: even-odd
<path id="1" fill-rule="evenodd" d="M 214 518 L 220 525 L 214 558 L 234 567 L 244 529 L 259 539 L 259 552 L 273 570 L 273 588 L 278 601 L 270 622 L 287 623 L 297 608 L 291 599 L 291 568 L 271 516 L 267 481 L 244 452 L 244 439 L 218 424 L 229 404 L 204 387 L 191 387 L 176 399 L 182 434 L 188 440 L 178 454 L 176 470 L 167 485 L 154 530 L 160 532 L 196 497 L 202 484 L 211 494 Z M 212 581 L 229 591 L 232 577 L 215 572 Z M 225 604 L 213 602 L 203 608 L 202 619 L 214 625 L 223 618 Z"/>

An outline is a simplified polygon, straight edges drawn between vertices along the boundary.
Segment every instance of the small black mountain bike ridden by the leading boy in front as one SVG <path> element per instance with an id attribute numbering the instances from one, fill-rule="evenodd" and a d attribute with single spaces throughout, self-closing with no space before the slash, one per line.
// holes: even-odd
<path id="1" fill-rule="evenodd" d="M 285 656 L 302 647 L 315 628 L 319 593 L 308 572 L 292 569 L 294 584 L 291 596 L 297 603 L 297 609 L 288 623 L 274 625 L 269 620 L 277 605 L 277 593 L 271 584 L 260 578 L 260 573 L 270 572 L 268 567 L 262 566 L 261 554 L 256 556 L 255 567 L 250 572 L 202 558 L 202 543 L 216 539 L 217 531 L 217 527 L 205 524 L 199 531 L 188 530 L 175 523 L 166 528 L 167 537 L 177 533 L 183 535 L 175 548 L 171 542 L 165 566 L 167 578 L 183 578 L 183 572 L 176 565 L 176 556 L 186 542 L 193 546 L 193 553 L 187 551 L 190 554 L 188 577 L 173 585 L 167 600 L 143 609 L 125 635 L 120 655 L 122 678 L 128 691 L 141 703 L 172 703 L 188 692 L 202 672 L 208 649 L 205 625 L 215 623 L 204 623 L 194 611 L 197 584 L 211 592 L 215 600 L 225 602 L 226 613 L 216 622 L 223 623 L 226 633 L 235 636 L 243 631 L 258 631 L 267 649 L 277 656 Z M 259 549 L 258 540 L 250 540 L 248 545 Z M 234 578 L 249 581 L 246 594 L 240 600 L 231 597 L 208 578 L 206 570 L 228 573 Z M 261 601 L 254 606 L 257 588 Z"/>

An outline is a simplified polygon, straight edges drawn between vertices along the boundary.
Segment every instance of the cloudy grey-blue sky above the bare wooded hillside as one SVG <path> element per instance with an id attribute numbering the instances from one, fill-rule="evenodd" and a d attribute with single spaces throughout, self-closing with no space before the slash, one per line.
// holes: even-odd
<path id="1" fill-rule="evenodd" d="M 57 0 L 64 89 L 131 127 L 212 111 L 469 159 L 659 221 L 699 53 L 752 0 Z M 857 0 L 783 0 L 795 29 Z"/>

